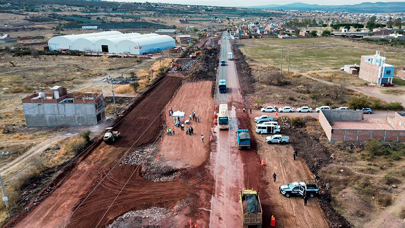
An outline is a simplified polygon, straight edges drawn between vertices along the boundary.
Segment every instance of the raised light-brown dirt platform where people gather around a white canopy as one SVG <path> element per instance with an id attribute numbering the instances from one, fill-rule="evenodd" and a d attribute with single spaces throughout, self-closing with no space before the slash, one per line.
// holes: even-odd
<path id="1" fill-rule="evenodd" d="M 197 167 L 203 164 L 208 157 L 208 142 L 210 140 L 210 128 L 213 126 L 214 99 L 211 96 L 213 82 L 185 83 L 179 89 L 175 98 L 169 104 L 173 111 L 185 111 L 184 120 L 190 120 L 189 115 L 195 110 L 195 116 L 200 117 L 200 123 L 190 121 L 184 125 L 184 131 L 174 126 L 173 117 L 168 117 L 168 125 L 175 128 L 175 135 L 166 135 L 159 148 L 159 156 L 165 161 L 170 161 L 171 166 L 177 169 Z M 166 110 L 166 113 L 169 109 Z M 186 135 L 185 128 L 193 127 L 194 134 Z M 204 143 L 201 134 L 205 136 Z"/>

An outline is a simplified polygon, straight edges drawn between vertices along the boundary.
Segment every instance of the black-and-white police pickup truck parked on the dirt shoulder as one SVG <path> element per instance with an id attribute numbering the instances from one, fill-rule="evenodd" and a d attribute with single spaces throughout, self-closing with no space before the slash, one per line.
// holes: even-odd
<path id="1" fill-rule="evenodd" d="M 319 188 L 315 179 L 307 179 L 283 184 L 278 187 L 278 192 L 287 198 L 293 195 L 303 196 L 304 194 L 314 197 L 319 194 Z"/>

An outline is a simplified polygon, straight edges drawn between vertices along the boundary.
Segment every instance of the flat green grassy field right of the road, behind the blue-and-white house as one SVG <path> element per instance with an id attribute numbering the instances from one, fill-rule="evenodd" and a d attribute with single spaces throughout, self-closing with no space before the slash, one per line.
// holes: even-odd
<path id="1" fill-rule="evenodd" d="M 376 50 L 387 57 L 386 62 L 396 68 L 405 64 L 405 55 L 399 48 L 365 44 L 333 37 L 281 40 L 277 38 L 239 40 L 240 50 L 247 59 L 280 65 L 281 48 L 288 54 L 291 48 L 290 68 L 295 72 L 330 70 L 345 64 L 360 64 L 361 55 L 374 55 Z M 287 63 L 286 59 L 283 60 Z M 286 65 L 285 65 L 286 66 Z M 286 67 L 283 67 L 287 69 Z"/>

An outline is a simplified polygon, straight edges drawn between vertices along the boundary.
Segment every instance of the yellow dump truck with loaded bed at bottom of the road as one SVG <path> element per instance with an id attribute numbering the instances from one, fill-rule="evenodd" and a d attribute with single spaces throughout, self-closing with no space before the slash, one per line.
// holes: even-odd
<path id="1" fill-rule="evenodd" d="M 244 205 L 245 202 L 245 205 Z M 242 225 L 244 227 L 261 228 L 263 224 L 262 204 L 259 192 L 252 189 L 244 189 L 239 194 L 240 210 L 242 211 Z M 246 210 L 244 210 L 246 208 Z"/>

